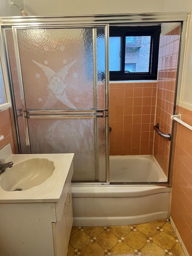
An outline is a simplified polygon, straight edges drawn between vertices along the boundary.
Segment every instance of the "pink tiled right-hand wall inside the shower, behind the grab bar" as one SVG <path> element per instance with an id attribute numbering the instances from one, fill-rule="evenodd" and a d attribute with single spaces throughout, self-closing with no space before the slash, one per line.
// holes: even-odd
<path id="1" fill-rule="evenodd" d="M 179 54 L 180 26 L 160 38 L 156 123 L 164 134 L 171 133 Z M 154 156 L 167 175 L 170 141 L 155 133 Z"/>

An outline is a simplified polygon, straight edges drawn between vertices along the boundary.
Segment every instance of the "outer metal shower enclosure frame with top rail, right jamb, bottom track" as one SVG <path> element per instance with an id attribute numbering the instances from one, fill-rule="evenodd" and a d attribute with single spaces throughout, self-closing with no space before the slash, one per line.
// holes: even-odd
<path id="1" fill-rule="evenodd" d="M 179 60 L 178 60 L 178 72 L 177 72 L 177 98 L 175 98 L 175 107 L 176 110 L 174 111 L 175 113 L 178 113 L 178 102 L 179 102 L 179 95 L 180 95 L 180 90 L 181 90 L 181 81 L 182 81 L 182 66 L 183 66 L 183 60 L 184 60 L 184 44 L 185 44 L 185 36 L 186 36 L 186 26 L 187 26 L 187 12 L 169 12 L 169 13 L 139 13 L 139 14 L 102 14 L 102 15 L 78 15 L 78 16 L 29 16 L 29 17 L 0 17 L 0 26 L 2 28 L 8 28 L 10 26 L 17 26 L 19 27 L 43 27 L 43 26 L 51 26 L 52 28 L 54 27 L 82 27 L 82 26 L 104 26 L 107 24 L 113 25 L 113 26 L 125 26 L 125 24 L 130 24 L 130 25 L 138 25 L 138 24 L 144 24 L 148 25 L 150 24 L 159 24 L 159 23 L 166 23 L 166 22 L 181 22 L 182 23 L 182 33 L 181 33 L 181 38 L 180 38 L 180 47 L 179 47 Z M 2 36 L 2 31 L 0 30 L 1 38 Z M 107 35 L 107 40 L 105 41 L 106 44 L 106 54 L 107 58 L 109 57 L 109 30 L 106 33 Z M 4 51 L 6 51 L 6 46 L 5 42 L 3 45 L 3 40 L 2 43 L 0 44 L 0 52 L 4 56 Z M 108 93 L 109 90 L 109 63 L 108 59 L 106 59 L 106 94 Z M 4 73 L 8 73 L 9 66 L 7 67 L 6 60 L 2 64 L 2 70 Z M 106 97 L 106 102 L 108 105 L 108 96 Z M 108 134 L 108 119 L 106 121 L 106 155 L 108 157 L 108 161 L 106 160 L 106 173 L 107 173 L 107 179 L 106 183 L 101 183 L 102 185 L 108 185 L 109 184 L 109 134 Z M 174 158 L 174 142 L 175 142 L 175 135 L 176 135 L 176 126 L 172 126 L 172 134 L 173 134 L 173 140 L 171 141 L 172 143 L 172 149 L 170 151 L 170 155 L 172 155 L 172 159 Z M 133 186 L 133 185 L 147 185 L 147 186 L 153 186 L 153 185 L 160 185 L 160 186 L 171 186 L 172 184 L 172 174 L 173 174 L 173 161 L 170 160 L 170 168 L 169 168 L 169 174 L 168 174 L 168 182 L 134 182 L 131 184 L 122 184 L 121 186 Z M 79 186 L 85 185 L 85 186 L 90 186 L 92 185 L 98 185 L 98 183 L 80 183 Z M 76 184 L 78 186 L 78 184 Z M 113 184 L 116 186 L 115 184 Z M 117 184 L 118 186 L 118 184 Z"/>

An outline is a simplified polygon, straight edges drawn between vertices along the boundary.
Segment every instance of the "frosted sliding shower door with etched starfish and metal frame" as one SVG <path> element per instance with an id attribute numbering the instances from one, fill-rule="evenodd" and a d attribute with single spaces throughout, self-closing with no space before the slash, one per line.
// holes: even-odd
<path id="1" fill-rule="evenodd" d="M 16 56 L 21 152 L 73 152 L 74 182 L 105 182 L 106 27 L 12 27 L 5 34 Z"/>

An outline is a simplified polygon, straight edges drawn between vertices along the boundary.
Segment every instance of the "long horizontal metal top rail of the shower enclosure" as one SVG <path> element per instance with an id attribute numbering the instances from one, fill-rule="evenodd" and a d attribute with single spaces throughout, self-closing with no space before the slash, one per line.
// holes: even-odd
<path id="1" fill-rule="evenodd" d="M 1 26 L 62 25 L 62 24 L 115 24 L 115 23 L 149 23 L 187 20 L 187 12 L 146 13 L 146 14 L 109 14 L 109 15 L 70 15 L 70 16 L 26 16 L 0 17 Z"/>

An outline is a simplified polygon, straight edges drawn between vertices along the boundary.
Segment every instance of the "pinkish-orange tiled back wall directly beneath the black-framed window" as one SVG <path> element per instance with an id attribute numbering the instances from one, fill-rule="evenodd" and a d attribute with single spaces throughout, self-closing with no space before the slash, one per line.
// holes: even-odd
<path id="1" fill-rule="evenodd" d="M 110 83 L 110 155 L 152 155 L 157 83 Z"/>

